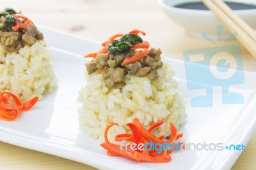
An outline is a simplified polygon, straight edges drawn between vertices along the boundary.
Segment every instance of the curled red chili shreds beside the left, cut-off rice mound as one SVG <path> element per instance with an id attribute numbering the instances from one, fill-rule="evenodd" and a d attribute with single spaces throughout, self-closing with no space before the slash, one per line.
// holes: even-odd
<path id="1" fill-rule="evenodd" d="M 10 92 L 0 92 L 0 119 L 13 121 L 19 118 L 20 112 L 28 111 L 38 101 L 38 97 L 34 97 L 28 102 L 22 104 L 19 97 Z"/>

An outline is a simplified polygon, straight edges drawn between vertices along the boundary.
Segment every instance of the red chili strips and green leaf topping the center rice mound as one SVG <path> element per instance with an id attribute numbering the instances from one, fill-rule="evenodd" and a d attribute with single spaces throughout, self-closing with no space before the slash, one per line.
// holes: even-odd
<path id="1" fill-rule="evenodd" d="M 102 49 L 100 49 L 97 52 L 92 52 L 90 54 L 87 54 L 86 56 L 84 56 L 84 58 L 95 58 L 100 53 L 115 54 L 116 52 L 122 52 L 124 50 L 143 49 L 138 54 L 135 54 L 134 56 L 131 56 L 131 58 L 128 58 L 125 61 L 123 61 L 121 66 L 139 61 L 140 59 L 147 56 L 147 54 L 150 52 L 150 49 L 149 49 L 150 43 L 143 42 L 142 38 L 138 36 L 139 33 L 141 33 L 142 35 L 146 35 L 144 31 L 134 29 L 125 35 L 116 34 L 116 35 L 110 36 L 106 42 L 101 43 L 101 45 L 103 46 Z M 116 39 L 116 38 L 119 38 L 119 39 Z"/>

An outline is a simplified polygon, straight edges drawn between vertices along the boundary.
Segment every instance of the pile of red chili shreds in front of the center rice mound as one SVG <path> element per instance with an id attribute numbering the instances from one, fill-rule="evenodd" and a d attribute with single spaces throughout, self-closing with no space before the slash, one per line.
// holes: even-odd
<path id="1" fill-rule="evenodd" d="M 104 132 L 104 139 L 105 143 L 100 144 L 104 149 L 107 150 L 108 155 L 110 156 L 121 156 L 125 158 L 131 158 L 133 160 L 136 160 L 138 162 L 170 162 L 172 158 L 170 157 L 170 153 L 172 150 L 177 149 L 172 147 L 172 143 L 177 141 L 180 137 L 183 136 L 183 134 L 177 134 L 177 128 L 170 123 L 171 129 L 170 129 L 170 138 L 167 140 L 164 140 L 164 136 L 157 137 L 156 135 L 153 135 L 151 132 L 155 128 L 159 127 L 163 124 L 163 121 L 159 121 L 157 123 L 154 123 L 150 128 L 145 129 L 138 118 L 134 118 L 132 120 L 132 123 L 127 123 L 127 126 L 131 129 L 132 134 L 118 134 L 115 137 L 115 141 L 129 141 L 132 143 L 138 144 L 148 144 L 148 143 L 154 143 L 158 144 L 156 145 L 157 148 L 161 149 L 162 147 L 160 144 L 170 144 L 168 150 L 161 150 L 161 153 L 159 153 L 159 150 L 133 150 L 131 148 L 131 145 L 127 146 L 121 146 L 119 144 L 115 143 L 109 143 L 108 140 L 108 130 L 109 128 L 113 127 L 113 125 L 118 125 L 117 123 L 111 123 L 106 127 L 106 130 Z M 163 148 L 162 148 L 163 149 Z"/>

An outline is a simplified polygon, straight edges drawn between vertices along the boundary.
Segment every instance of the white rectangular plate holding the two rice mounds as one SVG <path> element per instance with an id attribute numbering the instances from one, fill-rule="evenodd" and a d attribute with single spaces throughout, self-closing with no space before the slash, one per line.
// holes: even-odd
<path id="1" fill-rule="evenodd" d="M 16 121 L 0 120 L 0 140 L 24 148 L 42 151 L 82 162 L 99 169 L 229 169 L 241 151 L 191 150 L 172 153 L 172 161 L 162 164 L 137 163 L 120 157 L 109 157 L 97 140 L 79 130 L 77 122 L 78 91 L 84 80 L 84 54 L 100 48 L 99 43 L 40 27 L 52 56 L 58 88 Z M 166 59 L 175 70 L 179 91 L 186 101 L 186 122 L 179 132 L 181 141 L 190 143 L 223 143 L 246 145 L 256 126 L 255 73 L 244 72 L 245 83 L 233 91 L 243 94 L 244 104 L 213 107 L 191 107 L 190 100 L 204 91 L 189 91 L 184 63 Z M 214 101 L 220 101 L 220 89 L 214 89 Z"/>

